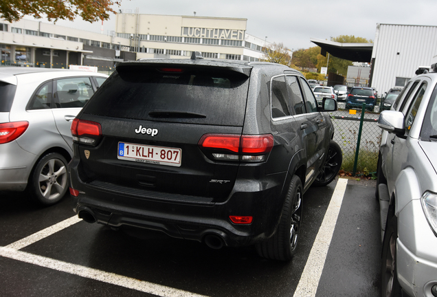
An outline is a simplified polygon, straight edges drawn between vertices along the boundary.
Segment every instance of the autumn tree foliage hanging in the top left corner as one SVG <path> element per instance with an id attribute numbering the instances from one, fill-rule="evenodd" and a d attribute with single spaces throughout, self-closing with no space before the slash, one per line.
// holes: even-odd
<path id="1" fill-rule="evenodd" d="M 115 13 L 111 5 L 120 6 L 115 0 L 2 0 L 0 1 L 0 17 L 6 21 L 19 21 L 28 15 L 35 19 L 47 17 L 49 21 L 58 19 L 74 21 L 77 16 L 85 21 L 109 19 L 109 12 Z"/>

